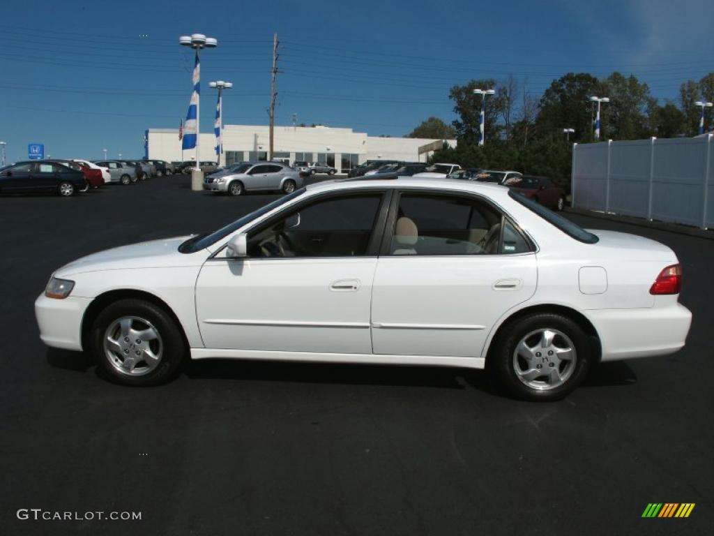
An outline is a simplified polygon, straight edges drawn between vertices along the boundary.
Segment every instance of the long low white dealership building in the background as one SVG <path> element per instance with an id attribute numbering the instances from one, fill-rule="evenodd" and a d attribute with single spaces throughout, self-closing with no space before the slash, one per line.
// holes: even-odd
<path id="1" fill-rule="evenodd" d="M 201 134 L 201 162 L 217 160 L 216 137 Z M 327 162 L 338 173 L 346 173 L 366 160 L 403 160 L 426 162 L 440 139 L 373 137 L 352 129 L 330 126 L 276 126 L 274 159 Z M 456 147 L 455 139 L 443 140 Z M 223 125 L 223 160 L 226 165 L 241 161 L 266 160 L 269 146 L 268 126 Z M 146 131 L 146 155 L 153 160 L 185 162 L 196 158 L 195 149 L 181 151 L 178 129 Z"/>

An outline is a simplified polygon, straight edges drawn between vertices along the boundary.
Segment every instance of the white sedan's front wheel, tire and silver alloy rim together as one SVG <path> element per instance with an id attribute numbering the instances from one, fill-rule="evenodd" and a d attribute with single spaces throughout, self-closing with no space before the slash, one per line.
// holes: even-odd
<path id="1" fill-rule="evenodd" d="M 174 319 L 142 299 L 120 299 L 106 307 L 92 324 L 89 340 L 101 372 L 125 385 L 166 382 L 187 355 Z"/>

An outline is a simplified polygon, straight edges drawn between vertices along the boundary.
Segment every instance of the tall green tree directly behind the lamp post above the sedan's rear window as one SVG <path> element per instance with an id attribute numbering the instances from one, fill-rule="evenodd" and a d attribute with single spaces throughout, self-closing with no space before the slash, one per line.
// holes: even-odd
<path id="1" fill-rule="evenodd" d="M 458 118 L 453 121 L 456 137 L 461 141 L 478 142 L 478 116 L 481 114 L 481 96 L 474 95 L 474 89 L 494 89 L 496 80 L 471 80 L 465 86 L 453 86 L 449 91 L 449 99 L 454 101 L 453 111 Z M 486 97 L 486 136 L 488 139 L 498 138 L 501 129 L 498 127 L 498 109 L 494 106 L 493 97 Z"/>

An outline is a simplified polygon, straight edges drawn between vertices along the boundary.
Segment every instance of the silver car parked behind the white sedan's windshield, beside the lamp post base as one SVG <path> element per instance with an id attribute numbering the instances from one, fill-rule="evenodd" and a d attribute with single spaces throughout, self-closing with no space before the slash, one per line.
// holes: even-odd
<path id="1" fill-rule="evenodd" d="M 272 190 L 291 194 L 303 187 L 303 177 L 280 162 L 241 162 L 208 175 L 203 189 L 216 194 L 241 195 L 243 192 Z"/>

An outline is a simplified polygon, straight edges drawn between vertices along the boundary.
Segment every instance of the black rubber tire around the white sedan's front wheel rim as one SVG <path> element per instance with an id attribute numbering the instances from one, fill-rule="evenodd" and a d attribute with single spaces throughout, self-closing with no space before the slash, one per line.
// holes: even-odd
<path id="1" fill-rule="evenodd" d="M 107 355 L 104 348 L 106 331 L 111 324 L 114 324 L 122 317 L 146 319 L 159 332 L 161 337 L 161 359 L 156 368 L 150 372 L 140 375 L 120 372 Z M 146 344 L 146 342 L 143 344 Z M 92 357 L 96 359 L 103 377 L 114 383 L 137 387 L 158 385 L 173 379 L 188 356 L 183 333 L 174 319 L 162 307 L 146 302 L 143 299 L 135 298 L 120 299 L 109 304 L 99 313 L 89 333 L 89 351 Z"/>

